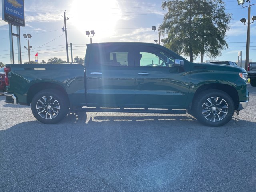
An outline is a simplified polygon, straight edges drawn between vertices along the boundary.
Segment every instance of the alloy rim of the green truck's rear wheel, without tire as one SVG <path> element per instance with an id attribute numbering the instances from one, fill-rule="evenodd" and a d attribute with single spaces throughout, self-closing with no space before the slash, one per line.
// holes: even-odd
<path id="1" fill-rule="evenodd" d="M 36 103 L 38 114 L 44 119 L 55 118 L 60 111 L 60 104 L 52 96 L 43 96 Z"/>

